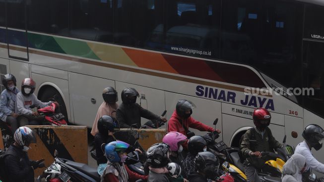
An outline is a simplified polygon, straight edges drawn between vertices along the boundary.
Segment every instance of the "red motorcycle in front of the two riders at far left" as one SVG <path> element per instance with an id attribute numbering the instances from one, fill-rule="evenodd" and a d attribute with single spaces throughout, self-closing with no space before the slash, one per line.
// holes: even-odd
<path id="1" fill-rule="evenodd" d="M 35 107 L 37 107 L 35 104 L 30 106 L 32 109 Z M 39 113 L 39 116 L 33 116 L 31 119 L 42 120 L 45 122 L 45 125 L 67 125 L 67 122 L 64 119 L 65 116 L 59 111 L 59 107 L 55 103 L 51 103 L 49 106 L 44 108 L 38 108 L 37 112 Z"/>

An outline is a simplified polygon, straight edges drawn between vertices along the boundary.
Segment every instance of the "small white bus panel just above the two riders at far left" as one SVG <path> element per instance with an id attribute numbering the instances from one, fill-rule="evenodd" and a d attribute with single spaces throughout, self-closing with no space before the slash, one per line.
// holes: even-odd
<path id="1" fill-rule="evenodd" d="M 22 61 L 10 60 L 10 73 L 17 79 L 17 88 L 21 90 L 21 81 L 25 78 L 30 78 L 29 64 Z"/>

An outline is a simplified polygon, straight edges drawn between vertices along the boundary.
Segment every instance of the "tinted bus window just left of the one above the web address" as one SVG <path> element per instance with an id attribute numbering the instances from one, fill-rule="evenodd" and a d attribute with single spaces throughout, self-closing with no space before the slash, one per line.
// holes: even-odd
<path id="1" fill-rule="evenodd" d="M 162 0 L 117 0 L 114 42 L 155 48 L 163 31 Z"/>

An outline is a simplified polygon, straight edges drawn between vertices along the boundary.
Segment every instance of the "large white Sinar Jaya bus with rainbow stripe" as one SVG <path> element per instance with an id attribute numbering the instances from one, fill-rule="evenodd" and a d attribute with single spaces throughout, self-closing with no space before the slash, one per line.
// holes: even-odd
<path id="1" fill-rule="evenodd" d="M 322 0 L 0 0 L 0 74 L 18 88 L 33 78 L 72 124 L 92 127 L 105 87 L 132 87 L 167 118 L 193 101 L 230 146 L 265 107 L 296 146 L 305 126 L 324 127 L 323 12 Z"/>

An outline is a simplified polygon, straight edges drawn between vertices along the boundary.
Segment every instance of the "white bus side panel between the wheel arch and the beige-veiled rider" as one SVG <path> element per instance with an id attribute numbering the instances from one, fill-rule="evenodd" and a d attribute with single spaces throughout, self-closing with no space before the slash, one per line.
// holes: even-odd
<path id="1" fill-rule="evenodd" d="M 114 87 L 115 82 L 87 75 L 68 73 L 70 103 L 73 106 L 75 124 L 92 127 L 98 108 L 104 101 L 102 90 L 109 86 Z"/>

